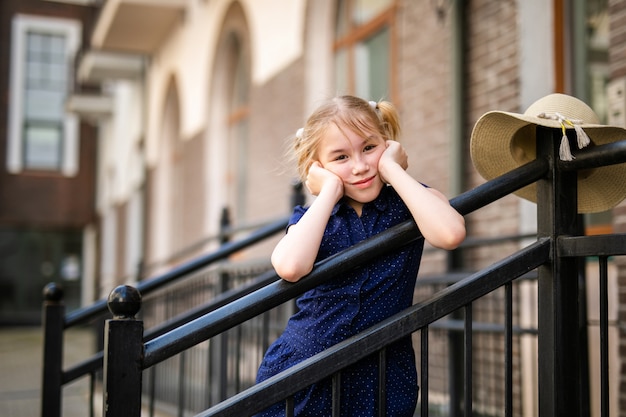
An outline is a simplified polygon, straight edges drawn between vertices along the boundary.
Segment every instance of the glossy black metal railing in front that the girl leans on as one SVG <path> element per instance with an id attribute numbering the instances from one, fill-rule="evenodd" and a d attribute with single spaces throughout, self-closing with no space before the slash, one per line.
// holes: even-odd
<path id="1" fill-rule="evenodd" d="M 400 338 L 419 332 L 420 335 L 420 415 L 429 413 L 429 330 L 441 318 L 461 311 L 464 336 L 464 392 L 462 412 L 472 415 L 473 372 L 472 334 L 473 304 L 481 297 L 503 288 L 505 296 L 505 405 L 501 413 L 513 415 L 512 283 L 530 271 L 537 271 L 538 283 L 538 415 L 585 415 L 589 408 L 588 392 L 581 392 L 580 361 L 579 262 L 588 256 L 599 256 L 600 280 L 606 282 L 609 256 L 626 254 L 625 235 L 577 236 L 576 171 L 589 167 L 626 162 L 626 142 L 597 146 L 585 151 L 572 162 L 558 159 L 559 131 L 538 128 L 536 160 L 474 190 L 451 200 L 463 215 L 537 182 L 537 239 L 528 247 L 489 268 L 436 293 L 430 299 L 379 323 L 261 384 L 255 385 L 226 401 L 202 412 L 202 416 L 243 416 L 285 401 L 286 415 L 293 415 L 293 395 L 324 378 L 340 381 L 341 370 L 361 358 L 378 354 L 385 364 L 385 346 Z M 625 138 L 626 139 L 626 138 Z M 180 320 L 167 331 L 158 332 L 145 343 L 142 323 L 134 319 L 139 310 L 141 288 L 118 287 L 109 300 L 115 318 L 106 323 L 104 367 L 104 415 L 139 416 L 141 408 L 141 375 L 143 370 L 160 363 L 192 346 L 222 334 L 258 314 L 302 294 L 335 274 L 355 268 L 372 256 L 393 251 L 409 241 L 420 238 L 413 222 L 389 229 L 318 264 L 307 277 L 297 283 L 278 280 L 270 272 L 246 295 L 215 308 L 197 312 Z M 260 282 L 259 281 L 259 282 Z M 606 320 L 606 283 L 601 285 L 601 415 L 608 416 L 608 354 Z M 54 304 L 51 300 L 51 304 Z M 54 317 L 54 316 L 51 316 Z M 125 333 L 126 332 L 126 333 Z M 124 360 L 116 363 L 120 356 Z M 111 358 L 109 360 L 108 358 Z M 121 368 L 118 368 L 121 366 Z M 53 379 L 53 378 L 51 378 Z M 44 375 L 44 381 L 45 375 Z M 384 393 L 384 378 L 381 378 Z M 139 387 L 138 387 L 139 386 Z M 338 390 L 339 382 L 335 384 Z M 339 392 L 339 391 L 337 391 Z M 580 395 L 572 401 L 572 393 Z M 130 395 L 129 395 L 130 394 Z M 380 397 L 379 415 L 384 410 Z M 336 404 L 339 406 L 339 402 Z M 581 411 L 582 410 L 582 411 Z"/>

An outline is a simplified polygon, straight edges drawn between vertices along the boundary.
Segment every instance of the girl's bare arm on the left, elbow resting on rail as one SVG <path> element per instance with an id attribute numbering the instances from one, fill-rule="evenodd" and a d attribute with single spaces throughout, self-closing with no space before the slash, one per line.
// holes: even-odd
<path id="1" fill-rule="evenodd" d="M 320 190 L 311 207 L 298 223 L 291 225 L 272 252 L 272 266 L 278 276 L 295 282 L 313 270 L 324 230 L 333 207 L 343 196 L 339 177 L 315 162 L 307 177 L 306 186 Z"/>

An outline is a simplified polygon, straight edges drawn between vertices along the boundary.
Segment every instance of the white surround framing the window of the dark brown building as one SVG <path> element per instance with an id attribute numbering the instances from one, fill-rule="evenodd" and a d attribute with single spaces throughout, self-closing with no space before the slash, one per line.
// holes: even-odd
<path id="1" fill-rule="evenodd" d="M 82 25 L 77 20 L 16 15 L 11 22 L 10 105 L 8 106 L 7 171 L 12 174 L 23 172 L 55 173 L 74 176 L 78 172 L 78 116 L 69 112 L 62 119 L 60 166 L 58 170 L 27 168 L 24 166 L 24 101 L 25 66 L 28 33 L 61 35 L 65 38 L 65 56 L 68 64 L 68 94 L 73 83 L 74 71 L 70 67 L 80 46 Z M 67 97 L 67 96 L 66 96 Z"/>

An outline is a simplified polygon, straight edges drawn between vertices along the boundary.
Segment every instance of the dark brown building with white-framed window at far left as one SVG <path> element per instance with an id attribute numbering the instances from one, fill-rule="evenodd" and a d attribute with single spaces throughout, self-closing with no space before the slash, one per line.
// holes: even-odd
<path id="1" fill-rule="evenodd" d="M 70 308 L 93 297 L 97 131 L 65 100 L 94 17 L 80 4 L 0 4 L 0 323 L 39 322 L 51 281 Z"/>

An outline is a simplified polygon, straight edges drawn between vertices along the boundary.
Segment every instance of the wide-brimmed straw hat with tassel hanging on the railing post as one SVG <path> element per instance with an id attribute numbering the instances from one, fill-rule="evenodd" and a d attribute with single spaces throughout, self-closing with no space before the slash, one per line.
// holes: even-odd
<path id="1" fill-rule="evenodd" d="M 571 160 L 567 140 L 578 139 L 578 148 L 626 140 L 621 127 L 599 124 L 595 112 L 579 99 L 564 94 L 540 98 L 524 114 L 492 111 L 478 119 L 472 131 L 470 153 L 474 166 L 490 180 L 535 159 L 537 126 L 561 129 L 563 160 Z M 537 202 L 537 185 L 518 190 L 518 196 Z M 595 213 L 615 207 L 626 197 L 626 163 L 578 172 L 578 212 Z"/>

